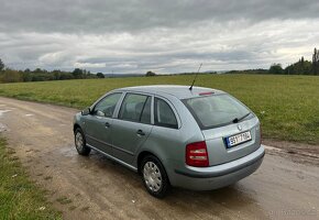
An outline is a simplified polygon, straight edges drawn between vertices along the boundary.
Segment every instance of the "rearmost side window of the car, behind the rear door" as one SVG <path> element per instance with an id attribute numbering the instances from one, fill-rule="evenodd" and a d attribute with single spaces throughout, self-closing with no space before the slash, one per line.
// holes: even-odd
<path id="1" fill-rule="evenodd" d="M 154 110 L 155 110 L 154 111 L 155 125 L 167 127 L 173 129 L 178 128 L 175 113 L 166 101 L 155 98 Z"/>

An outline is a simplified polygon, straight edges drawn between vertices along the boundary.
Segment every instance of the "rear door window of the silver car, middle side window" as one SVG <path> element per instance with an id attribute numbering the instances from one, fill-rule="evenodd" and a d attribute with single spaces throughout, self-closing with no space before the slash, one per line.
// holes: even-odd
<path id="1" fill-rule="evenodd" d="M 122 102 L 119 119 L 151 123 L 151 97 L 128 94 Z"/>

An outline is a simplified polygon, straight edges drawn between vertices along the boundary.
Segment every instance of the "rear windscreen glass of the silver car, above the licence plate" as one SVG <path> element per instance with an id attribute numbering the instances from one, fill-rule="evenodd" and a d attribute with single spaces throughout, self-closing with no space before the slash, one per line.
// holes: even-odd
<path id="1" fill-rule="evenodd" d="M 227 94 L 184 99 L 183 102 L 201 129 L 222 127 L 252 117 L 244 105 Z"/>

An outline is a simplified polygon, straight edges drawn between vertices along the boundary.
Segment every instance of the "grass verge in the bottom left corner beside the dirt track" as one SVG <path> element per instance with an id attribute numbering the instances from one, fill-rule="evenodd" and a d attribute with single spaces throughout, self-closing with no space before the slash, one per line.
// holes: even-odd
<path id="1" fill-rule="evenodd" d="M 0 138 L 0 219 L 62 219 Z"/>

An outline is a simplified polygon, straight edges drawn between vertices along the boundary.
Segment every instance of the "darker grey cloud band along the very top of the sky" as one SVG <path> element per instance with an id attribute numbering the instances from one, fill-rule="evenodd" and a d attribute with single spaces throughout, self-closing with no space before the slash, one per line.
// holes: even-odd
<path id="1" fill-rule="evenodd" d="M 1 0 L 0 31 L 106 33 L 200 22 L 319 18 L 317 0 Z"/>

